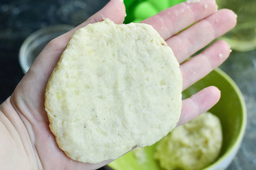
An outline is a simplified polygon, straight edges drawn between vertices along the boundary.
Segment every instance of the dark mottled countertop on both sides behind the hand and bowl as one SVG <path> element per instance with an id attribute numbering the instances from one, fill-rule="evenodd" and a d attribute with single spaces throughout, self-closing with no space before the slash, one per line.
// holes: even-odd
<path id="1" fill-rule="evenodd" d="M 45 26 L 75 26 L 101 9 L 108 0 L 1 0 L 0 103 L 12 94 L 23 77 L 19 48 L 25 38 Z M 220 68 L 240 87 L 248 112 L 242 147 L 228 170 L 256 169 L 256 50 L 233 51 Z M 102 168 L 103 169 L 103 168 Z"/>

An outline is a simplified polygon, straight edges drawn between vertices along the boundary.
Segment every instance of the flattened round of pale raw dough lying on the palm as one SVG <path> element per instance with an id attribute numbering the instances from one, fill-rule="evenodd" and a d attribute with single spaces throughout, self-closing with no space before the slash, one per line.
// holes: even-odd
<path id="1" fill-rule="evenodd" d="M 50 129 L 73 160 L 116 159 L 167 135 L 181 114 L 182 74 L 148 24 L 89 24 L 69 40 L 45 93 Z"/>

